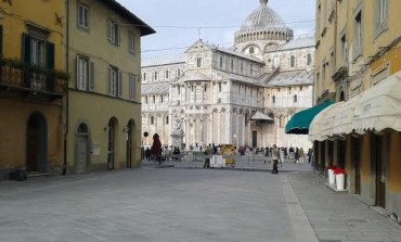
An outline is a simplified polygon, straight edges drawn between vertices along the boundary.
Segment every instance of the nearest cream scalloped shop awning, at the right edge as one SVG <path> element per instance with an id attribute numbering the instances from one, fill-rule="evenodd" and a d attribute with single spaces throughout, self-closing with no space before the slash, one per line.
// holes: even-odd
<path id="1" fill-rule="evenodd" d="M 401 131 L 401 72 L 366 90 L 353 114 L 354 131 Z"/>

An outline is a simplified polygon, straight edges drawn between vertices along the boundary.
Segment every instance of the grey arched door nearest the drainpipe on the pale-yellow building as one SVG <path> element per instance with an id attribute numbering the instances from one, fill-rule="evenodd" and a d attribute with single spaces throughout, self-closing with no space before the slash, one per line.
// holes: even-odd
<path id="1" fill-rule="evenodd" d="M 83 174 L 87 171 L 89 162 L 89 131 L 86 124 L 80 124 L 76 133 L 76 149 L 75 149 L 75 161 L 76 161 L 76 173 Z"/>

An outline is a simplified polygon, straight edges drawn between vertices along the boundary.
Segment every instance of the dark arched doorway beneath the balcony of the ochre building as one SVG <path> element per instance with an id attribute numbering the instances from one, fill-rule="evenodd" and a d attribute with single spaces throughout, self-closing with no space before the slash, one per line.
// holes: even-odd
<path id="1" fill-rule="evenodd" d="M 42 114 L 30 115 L 26 133 L 26 167 L 28 173 L 46 173 L 48 164 L 48 124 Z"/>

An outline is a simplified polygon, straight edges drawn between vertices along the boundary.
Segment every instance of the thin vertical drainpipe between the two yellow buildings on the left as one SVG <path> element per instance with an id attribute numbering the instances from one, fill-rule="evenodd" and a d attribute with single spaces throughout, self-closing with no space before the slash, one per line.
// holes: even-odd
<path id="1" fill-rule="evenodd" d="M 65 59 L 66 59 L 66 72 L 69 73 L 69 0 L 66 0 L 67 9 L 67 23 L 66 23 L 66 44 L 65 44 Z M 65 131 L 64 131 L 64 162 L 63 162 L 63 176 L 67 175 L 67 139 L 68 139 L 68 129 L 69 129 L 69 100 L 68 100 L 68 82 L 67 82 L 67 94 L 65 98 Z"/>

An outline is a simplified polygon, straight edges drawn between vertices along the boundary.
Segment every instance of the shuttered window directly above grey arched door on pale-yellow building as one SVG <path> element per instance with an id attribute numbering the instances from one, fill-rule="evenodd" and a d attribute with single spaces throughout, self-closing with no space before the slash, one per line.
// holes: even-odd
<path id="1" fill-rule="evenodd" d="M 89 59 L 77 55 L 77 89 L 94 89 L 94 64 Z"/>

